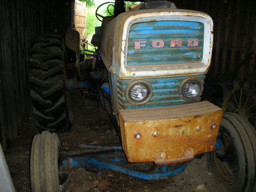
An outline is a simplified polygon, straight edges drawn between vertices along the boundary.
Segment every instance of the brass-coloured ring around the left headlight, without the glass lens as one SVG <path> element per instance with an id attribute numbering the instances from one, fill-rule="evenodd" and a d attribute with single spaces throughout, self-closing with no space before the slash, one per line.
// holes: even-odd
<path id="1" fill-rule="evenodd" d="M 141 101 L 136 101 L 131 98 L 130 91 L 134 86 L 136 86 L 136 84 L 143 84 L 144 86 L 146 86 L 146 88 L 149 92 L 147 94 L 147 96 Z M 150 100 L 150 98 L 152 97 L 153 90 L 152 90 L 152 86 L 149 82 L 147 82 L 145 80 L 134 80 L 134 81 L 130 82 L 129 84 L 127 84 L 124 93 L 125 93 L 125 97 L 126 97 L 127 101 L 129 101 L 132 104 L 141 105 L 141 104 L 146 103 L 148 100 Z"/>

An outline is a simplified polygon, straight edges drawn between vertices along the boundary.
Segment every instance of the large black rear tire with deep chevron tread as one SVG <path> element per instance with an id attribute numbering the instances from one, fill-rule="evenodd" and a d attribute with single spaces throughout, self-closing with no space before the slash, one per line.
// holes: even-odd
<path id="1" fill-rule="evenodd" d="M 65 46 L 61 36 L 34 39 L 30 51 L 29 81 L 32 110 L 40 132 L 70 130 L 65 88 Z"/>

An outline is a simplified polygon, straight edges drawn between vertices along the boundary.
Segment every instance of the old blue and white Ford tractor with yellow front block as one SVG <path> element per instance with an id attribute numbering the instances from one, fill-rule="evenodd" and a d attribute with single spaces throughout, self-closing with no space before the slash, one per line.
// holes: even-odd
<path id="1" fill-rule="evenodd" d="M 75 167 L 144 180 L 171 177 L 204 154 L 230 190 L 256 191 L 253 126 L 243 116 L 200 101 L 213 47 L 211 17 L 177 9 L 170 1 L 141 2 L 125 11 L 124 1 L 115 1 L 111 16 L 96 11 L 102 25 L 91 43 L 97 49 L 85 60 L 73 29 L 65 41 L 56 34 L 33 41 L 30 94 L 41 134 L 31 148 L 32 191 L 59 191 L 59 176 Z M 62 153 L 57 133 L 71 127 L 69 90 L 78 88 L 95 94 L 120 145 Z M 133 166 L 145 162 L 153 165 Z"/>

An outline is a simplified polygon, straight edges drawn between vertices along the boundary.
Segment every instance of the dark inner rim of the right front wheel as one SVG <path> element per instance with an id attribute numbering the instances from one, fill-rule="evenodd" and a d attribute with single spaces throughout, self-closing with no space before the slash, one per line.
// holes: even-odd
<path id="1" fill-rule="evenodd" d="M 237 150 L 234 146 L 229 135 L 223 130 L 220 131 L 218 139 L 222 139 L 225 147 L 225 155 L 218 156 L 218 153 L 214 151 L 212 155 L 212 163 L 216 167 L 216 173 L 218 178 L 225 184 L 231 185 L 236 181 L 238 176 L 238 157 Z"/>

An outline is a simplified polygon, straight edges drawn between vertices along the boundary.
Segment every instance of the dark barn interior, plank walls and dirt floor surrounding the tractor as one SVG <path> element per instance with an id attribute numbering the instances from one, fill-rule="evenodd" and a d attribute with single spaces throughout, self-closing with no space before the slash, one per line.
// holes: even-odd
<path id="1" fill-rule="evenodd" d="M 224 112 L 242 114 L 255 127 L 256 2 L 172 2 L 179 9 L 207 13 L 214 22 L 211 64 L 206 74 L 202 100 L 214 103 Z M 64 39 L 68 28 L 84 29 L 86 23 L 78 24 L 75 20 L 77 9 L 81 6 L 86 4 L 77 0 L 3 0 L 0 3 L 0 142 L 16 191 L 30 191 L 30 147 L 34 135 L 38 133 L 30 100 L 29 60 L 32 42 L 41 34 L 57 34 Z M 122 1 L 116 0 L 115 6 L 122 6 Z M 86 19 L 84 15 L 82 19 Z M 83 30 L 79 32 L 81 39 L 86 40 Z M 64 147 L 84 152 L 86 149 L 77 147 L 81 143 L 119 142 L 111 120 L 88 89 L 73 90 L 70 97 L 74 120 L 70 131 L 59 133 Z M 236 106 L 238 102 L 239 106 L 249 104 L 246 106 L 248 111 Z M 202 157 L 195 159 L 182 174 L 174 178 L 150 182 L 110 171 L 95 174 L 84 168 L 71 169 L 65 190 L 228 191 L 228 187 L 214 178 L 207 167 L 206 158 Z"/>

